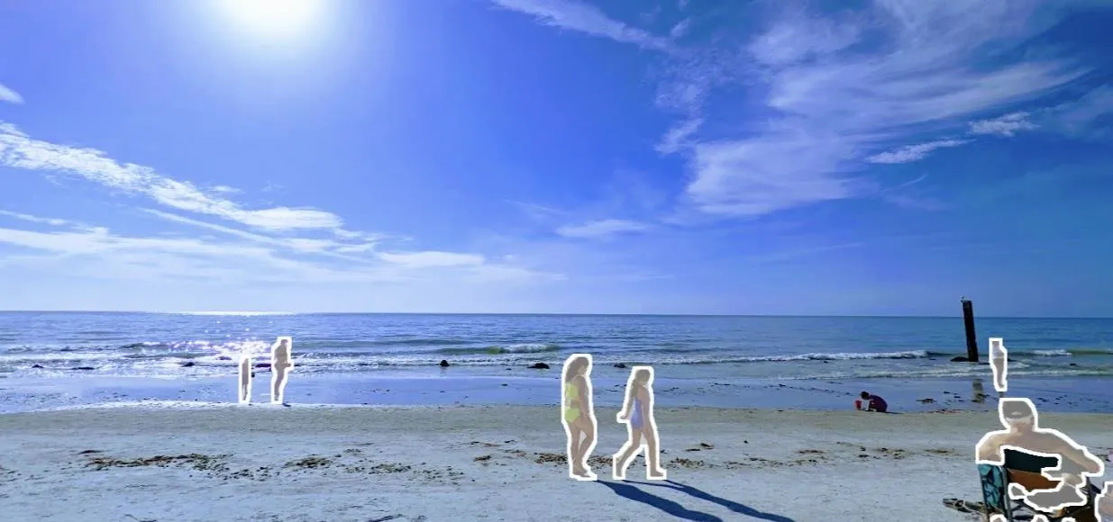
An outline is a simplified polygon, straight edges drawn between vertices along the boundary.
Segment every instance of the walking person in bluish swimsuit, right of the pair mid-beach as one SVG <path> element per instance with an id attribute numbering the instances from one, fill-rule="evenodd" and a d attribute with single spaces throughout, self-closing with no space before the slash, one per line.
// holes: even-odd
<path id="1" fill-rule="evenodd" d="M 661 446 L 653 420 L 653 367 L 633 367 L 627 381 L 627 398 L 619 412 L 618 421 L 627 424 L 629 439 L 614 455 L 614 480 L 626 480 L 630 461 L 642 449 L 646 450 L 646 478 L 666 480 L 661 469 Z"/>

